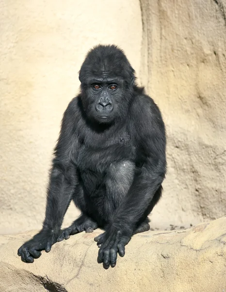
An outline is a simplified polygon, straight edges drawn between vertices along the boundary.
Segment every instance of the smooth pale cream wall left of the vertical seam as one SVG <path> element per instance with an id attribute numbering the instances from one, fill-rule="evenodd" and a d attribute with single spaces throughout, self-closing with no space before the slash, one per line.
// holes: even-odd
<path id="1" fill-rule="evenodd" d="M 86 52 L 125 50 L 139 73 L 139 1 L 0 0 L 0 234 L 39 228 L 52 148 Z M 128 9 L 129 7 L 129 9 Z M 66 223 L 74 218 L 71 206 Z"/>

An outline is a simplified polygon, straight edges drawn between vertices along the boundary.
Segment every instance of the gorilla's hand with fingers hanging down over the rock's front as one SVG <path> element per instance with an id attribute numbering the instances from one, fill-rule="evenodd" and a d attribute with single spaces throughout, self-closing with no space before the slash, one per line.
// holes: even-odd
<path id="1" fill-rule="evenodd" d="M 110 227 L 103 234 L 94 238 L 100 248 L 97 262 L 103 263 L 104 269 L 109 266 L 113 268 L 116 265 L 117 253 L 119 256 L 125 256 L 125 245 L 128 244 L 132 236 L 132 230 L 117 229 Z"/>

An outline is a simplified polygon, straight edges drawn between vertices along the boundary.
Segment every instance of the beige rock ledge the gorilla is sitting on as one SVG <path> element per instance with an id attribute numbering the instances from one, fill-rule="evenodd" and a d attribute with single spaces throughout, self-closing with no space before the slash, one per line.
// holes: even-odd
<path id="1" fill-rule="evenodd" d="M 226 217 L 192 229 L 132 237 L 107 271 L 97 264 L 98 232 L 56 243 L 26 264 L 16 255 L 33 232 L 0 236 L 0 292 L 224 292 Z"/>

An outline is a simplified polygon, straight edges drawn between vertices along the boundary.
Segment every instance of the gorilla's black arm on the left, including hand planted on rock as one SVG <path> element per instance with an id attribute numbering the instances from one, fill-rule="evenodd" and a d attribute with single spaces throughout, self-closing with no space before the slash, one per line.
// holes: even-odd
<path id="1" fill-rule="evenodd" d="M 73 167 L 73 161 L 71 160 L 71 154 L 78 144 L 74 135 L 74 124 L 72 123 L 74 121 L 73 107 L 69 104 L 62 120 L 60 137 L 55 147 L 43 228 L 18 249 L 18 256 L 21 256 L 24 262 L 33 262 L 34 258 L 41 256 L 41 250 L 49 252 L 59 236 L 65 212 L 77 182 L 75 167 Z"/>

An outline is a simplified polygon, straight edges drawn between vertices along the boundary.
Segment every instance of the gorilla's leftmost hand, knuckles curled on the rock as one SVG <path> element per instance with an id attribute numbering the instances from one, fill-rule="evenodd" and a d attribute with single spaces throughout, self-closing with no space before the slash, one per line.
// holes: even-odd
<path id="1" fill-rule="evenodd" d="M 50 252 L 51 246 L 57 242 L 59 233 L 53 233 L 51 230 L 41 230 L 32 239 L 25 242 L 17 251 L 21 260 L 25 263 L 32 263 L 34 258 L 42 255 L 40 251 Z"/>

